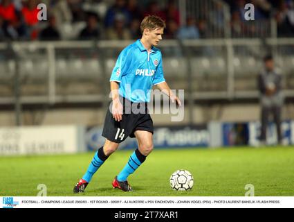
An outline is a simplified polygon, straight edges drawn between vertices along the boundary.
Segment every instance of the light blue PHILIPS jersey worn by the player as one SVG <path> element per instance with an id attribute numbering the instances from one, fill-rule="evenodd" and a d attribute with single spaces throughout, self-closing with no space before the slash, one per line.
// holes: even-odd
<path id="1" fill-rule="evenodd" d="M 159 49 L 152 46 L 150 53 L 140 40 L 122 50 L 110 81 L 119 83 L 120 96 L 134 103 L 149 102 L 153 85 L 165 82 Z"/>

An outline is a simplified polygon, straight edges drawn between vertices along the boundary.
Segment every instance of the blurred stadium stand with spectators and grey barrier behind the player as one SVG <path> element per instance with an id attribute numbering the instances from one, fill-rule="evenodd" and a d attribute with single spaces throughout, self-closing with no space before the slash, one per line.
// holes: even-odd
<path id="1" fill-rule="evenodd" d="M 118 53 L 139 36 L 138 21 L 149 14 L 167 22 L 168 40 L 160 43 L 165 77 L 185 89 L 187 101 L 257 103 L 256 76 L 268 52 L 293 99 L 293 1 L 256 1 L 254 22 L 244 20 L 245 0 L 42 1 L 48 21 L 36 22 L 40 2 L 0 1 L 1 105 L 13 108 L 15 78 L 24 105 L 105 103 Z M 107 31 L 120 19 L 130 39 L 109 40 Z"/>

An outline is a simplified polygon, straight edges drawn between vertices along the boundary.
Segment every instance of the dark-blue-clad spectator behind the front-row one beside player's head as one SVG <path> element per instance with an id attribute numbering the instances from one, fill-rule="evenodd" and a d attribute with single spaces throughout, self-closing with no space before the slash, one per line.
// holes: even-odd
<path id="1" fill-rule="evenodd" d="M 107 10 L 107 15 L 105 17 L 105 27 L 113 27 L 115 24 L 116 16 L 119 15 L 120 17 L 124 17 L 124 24 L 128 25 L 130 22 L 131 15 L 126 7 L 125 0 L 116 0 L 109 10 Z"/>

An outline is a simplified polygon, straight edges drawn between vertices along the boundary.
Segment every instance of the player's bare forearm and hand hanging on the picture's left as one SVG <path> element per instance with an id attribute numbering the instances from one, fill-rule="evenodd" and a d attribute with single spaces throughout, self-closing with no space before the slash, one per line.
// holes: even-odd
<path id="1" fill-rule="evenodd" d="M 120 85 L 116 81 L 110 82 L 111 97 L 112 97 L 112 116 L 116 121 L 122 120 L 122 103 L 120 103 L 120 94 L 118 94 L 118 89 Z"/>

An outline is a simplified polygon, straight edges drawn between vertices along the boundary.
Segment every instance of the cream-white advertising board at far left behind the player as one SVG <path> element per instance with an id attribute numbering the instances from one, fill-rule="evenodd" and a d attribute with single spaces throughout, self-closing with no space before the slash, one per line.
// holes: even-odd
<path id="1" fill-rule="evenodd" d="M 0 155 L 36 155 L 86 151 L 82 126 L 0 128 Z"/>

